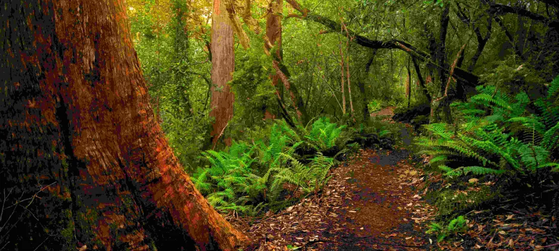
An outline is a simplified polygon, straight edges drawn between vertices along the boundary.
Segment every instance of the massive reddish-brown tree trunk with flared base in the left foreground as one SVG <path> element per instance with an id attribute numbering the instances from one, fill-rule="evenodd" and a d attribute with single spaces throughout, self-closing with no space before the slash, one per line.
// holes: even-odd
<path id="1" fill-rule="evenodd" d="M 0 248 L 233 250 L 245 242 L 173 155 L 124 7 L 2 4 Z"/>

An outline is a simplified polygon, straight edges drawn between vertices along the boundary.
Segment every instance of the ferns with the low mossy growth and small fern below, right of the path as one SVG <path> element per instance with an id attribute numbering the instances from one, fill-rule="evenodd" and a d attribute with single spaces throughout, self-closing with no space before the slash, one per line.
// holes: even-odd
<path id="1" fill-rule="evenodd" d="M 506 201 L 520 201 L 526 200 L 522 193 L 559 194 L 553 181 L 559 171 L 559 76 L 546 86 L 543 95 L 529 96 L 524 91 L 509 95 L 499 85 L 480 85 L 467 102 L 451 104 L 458 114 L 455 124 L 424 125 L 424 135 L 415 144 L 449 181 L 428 195 L 440 220 L 479 210 L 505 196 L 510 196 Z M 559 200 L 553 204 L 557 215 Z M 439 241 L 456 234 L 463 230 L 461 217 L 446 226 L 432 223 L 427 233 L 437 234 Z"/>

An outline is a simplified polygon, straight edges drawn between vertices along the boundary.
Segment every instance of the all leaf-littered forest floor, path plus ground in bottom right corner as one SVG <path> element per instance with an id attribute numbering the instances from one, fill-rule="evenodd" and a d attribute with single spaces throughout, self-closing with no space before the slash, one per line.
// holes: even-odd
<path id="1" fill-rule="evenodd" d="M 382 110 L 383 113 L 392 109 Z M 391 114 L 382 114 L 391 115 Z M 451 187 L 437 173 L 424 173 L 427 160 L 413 158 L 410 126 L 402 129 L 399 149 L 359 149 L 330 170 L 324 188 L 299 204 L 259 218 L 226 218 L 252 240 L 245 250 L 553 250 L 559 244 L 550 231 L 555 219 L 535 208 L 495 205 L 471 211 L 468 230 L 458 241 L 437 243 L 425 234 L 437 209 L 430 192 Z M 425 156 L 424 156 L 425 157 Z M 477 179 L 476 179 L 477 180 Z M 470 180 L 471 181 L 471 180 Z M 465 181 L 458 193 L 491 182 Z M 469 183 L 469 184 L 468 184 Z M 454 184 L 453 186 L 456 186 Z M 500 211 L 499 214 L 493 211 Z M 555 224 L 555 223 L 553 223 Z M 456 240 L 456 239 L 454 239 Z"/>

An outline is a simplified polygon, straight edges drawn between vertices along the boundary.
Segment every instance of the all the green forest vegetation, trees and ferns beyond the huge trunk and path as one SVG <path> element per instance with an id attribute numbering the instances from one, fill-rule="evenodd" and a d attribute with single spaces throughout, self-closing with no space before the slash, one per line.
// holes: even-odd
<path id="1" fill-rule="evenodd" d="M 458 199 L 473 204 L 449 202 L 451 190 L 435 195 L 447 222 L 432 225 L 439 240 L 465 228 L 466 210 L 502 196 L 539 191 L 555 196 L 547 206 L 559 213 L 554 1 L 226 2 L 235 98 L 217 138 L 211 3 L 127 2 L 153 109 L 216 209 L 257 215 L 317 192 L 335 158 L 401 143 L 400 129 L 370 115 L 396 107 L 431 171 L 456 184 L 500 180 L 491 196 Z M 266 33 L 273 17 L 281 45 Z M 525 191 L 506 191 L 518 185 Z"/>

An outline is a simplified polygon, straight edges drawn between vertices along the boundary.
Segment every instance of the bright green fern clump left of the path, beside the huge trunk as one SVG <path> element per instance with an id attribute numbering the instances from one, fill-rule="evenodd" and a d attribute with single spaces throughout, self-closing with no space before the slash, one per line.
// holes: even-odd
<path id="1" fill-rule="evenodd" d="M 320 151 L 304 160 L 305 165 L 295 153 L 297 148 L 306 143 L 329 149 L 343 128 L 320 118 L 307 132 L 278 120 L 267 138 L 253 138 L 251 144 L 234 142 L 228 151 L 203 152 L 211 166 L 197 170 L 192 181 L 217 210 L 255 215 L 263 209 L 281 209 L 320 189 L 333 165 L 333 158 Z"/>

